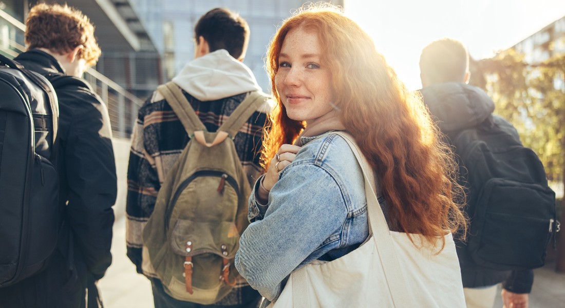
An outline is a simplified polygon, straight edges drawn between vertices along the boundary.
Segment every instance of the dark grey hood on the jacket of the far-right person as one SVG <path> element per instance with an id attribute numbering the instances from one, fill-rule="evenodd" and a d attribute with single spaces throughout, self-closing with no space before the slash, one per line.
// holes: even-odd
<path id="1" fill-rule="evenodd" d="M 464 83 L 443 83 L 420 90 L 424 104 L 442 132 L 458 131 L 483 123 L 494 102 L 483 89 Z"/>

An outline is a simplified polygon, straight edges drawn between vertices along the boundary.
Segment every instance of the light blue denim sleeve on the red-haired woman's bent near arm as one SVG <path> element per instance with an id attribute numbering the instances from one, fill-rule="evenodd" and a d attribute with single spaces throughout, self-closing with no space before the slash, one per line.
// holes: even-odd
<path id="1" fill-rule="evenodd" d="M 257 221 L 241 236 L 236 267 L 270 301 L 279 297 L 281 282 L 347 219 L 340 185 L 331 172 L 311 162 L 286 167 L 267 206 L 258 205 L 252 194 L 250 210 Z"/>

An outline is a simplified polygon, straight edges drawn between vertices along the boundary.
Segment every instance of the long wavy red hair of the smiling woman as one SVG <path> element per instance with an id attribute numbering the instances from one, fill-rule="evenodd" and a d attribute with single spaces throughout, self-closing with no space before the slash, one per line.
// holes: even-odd
<path id="1" fill-rule="evenodd" d="M 407 90 L 373 40 L 339 7 L 314 4 L 283 21 L 267 52 L 266 67 L 276 107 L 262 153 L 268 166 L 282 144 L 292 144 L 306 123 L 286 116 L 275 87 L 279 53 L 295 28 L 318 33 L 324 46 L 321 62 L 332 72 L 335 105 L 380 180 L 392 229 L 421 234 L 435 242 L 445 230 L 466 228 L 455 181 L 455 162 L 441 141 L 420 97 Z M 464 235 L 465 232 L 463 231 Z"/>

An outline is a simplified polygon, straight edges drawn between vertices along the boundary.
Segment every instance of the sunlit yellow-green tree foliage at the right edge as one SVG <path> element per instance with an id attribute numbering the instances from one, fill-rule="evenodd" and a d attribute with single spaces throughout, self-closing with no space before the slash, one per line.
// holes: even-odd
<path id="1" fill-rule="evenodd" d="M 513 49 L 501 51 L 471 61 L 471 81 L 489 93 L 494 112 L 509 120 L 524 146 L 538 154 L 548 179 L 564 183 L 565 54 L 528 64 Z M 565 235 L 558 246 L 557 270 L 565 272 Z"/>

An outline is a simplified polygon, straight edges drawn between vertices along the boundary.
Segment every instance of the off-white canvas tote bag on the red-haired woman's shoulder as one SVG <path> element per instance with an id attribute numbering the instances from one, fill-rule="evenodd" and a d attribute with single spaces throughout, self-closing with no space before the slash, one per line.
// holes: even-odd
<path id="1" fill-rule="evenodd" d="M 331 262 L 315 261 L 292 272 L 274 308 L 465 307 L 451 233 L 431 247 L 420 235 L 389 231 L 375 194 L 374 177 L 353 137 L 345 138 L 365 177 L 370 236 L 359 248 Z M 423 244 L 423 245 L 422 245 Z"/>

